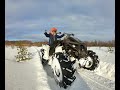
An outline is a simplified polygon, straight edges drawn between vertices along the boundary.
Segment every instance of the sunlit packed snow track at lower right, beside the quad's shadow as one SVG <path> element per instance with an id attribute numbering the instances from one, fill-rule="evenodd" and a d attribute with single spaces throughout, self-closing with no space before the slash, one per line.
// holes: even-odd
<path id="1" fill-rule="evenodd" d="M 115 82 L 112 80 L 86 70 L 79 70 L 79 74 L 87 82 L 91 90 L 115 90 Z"/>

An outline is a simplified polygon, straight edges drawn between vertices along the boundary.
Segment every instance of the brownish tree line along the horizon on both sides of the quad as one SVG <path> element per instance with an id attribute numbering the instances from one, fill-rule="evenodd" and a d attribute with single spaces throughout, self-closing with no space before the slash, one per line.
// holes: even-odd
<path id="1" fill-rule="evenodd" d="M 99 46 L 99 47 L 115 47 L 115 40 L 111 41 L 83 41 L 87 46 Z M 48 44 L 48 41 L 32 42 L 29 40 L 19 40 L 19 41 L 5 41 L 6 46 L 42 46 L 42 44 Z"/>

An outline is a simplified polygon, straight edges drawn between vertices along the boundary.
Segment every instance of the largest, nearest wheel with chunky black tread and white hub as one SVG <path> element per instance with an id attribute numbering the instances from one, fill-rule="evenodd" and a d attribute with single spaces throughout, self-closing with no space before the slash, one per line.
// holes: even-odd
<path id="1" fill-rule="evenodd" d="M 67 88 L 76 79 L 74 76 L 75 69 L 72 67 L 74 63 L 75 61 L 69 61 L 63 53 L 55 54 L 52 68 L 54 78 L 60 87 Z"/>

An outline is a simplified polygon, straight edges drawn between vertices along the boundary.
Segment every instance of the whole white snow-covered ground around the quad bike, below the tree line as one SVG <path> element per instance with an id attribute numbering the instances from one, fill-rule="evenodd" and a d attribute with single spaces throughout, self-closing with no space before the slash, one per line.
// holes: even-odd
<path id="1" fill-rule="evenodd" d="M 29 61 L 16 62 L 17 48 L 5 46 L 5 90 L 115 90 L 115 49 L 110 53 L 107 47 L 88 47 L 96 52 L 100 64 L 95 71 L 78 69 L 76 80 L 67 89 L 60 88 L 50 66 L 43 67 L 37 50 L 41 47 L 28 47 L 33 53 Z"/>

